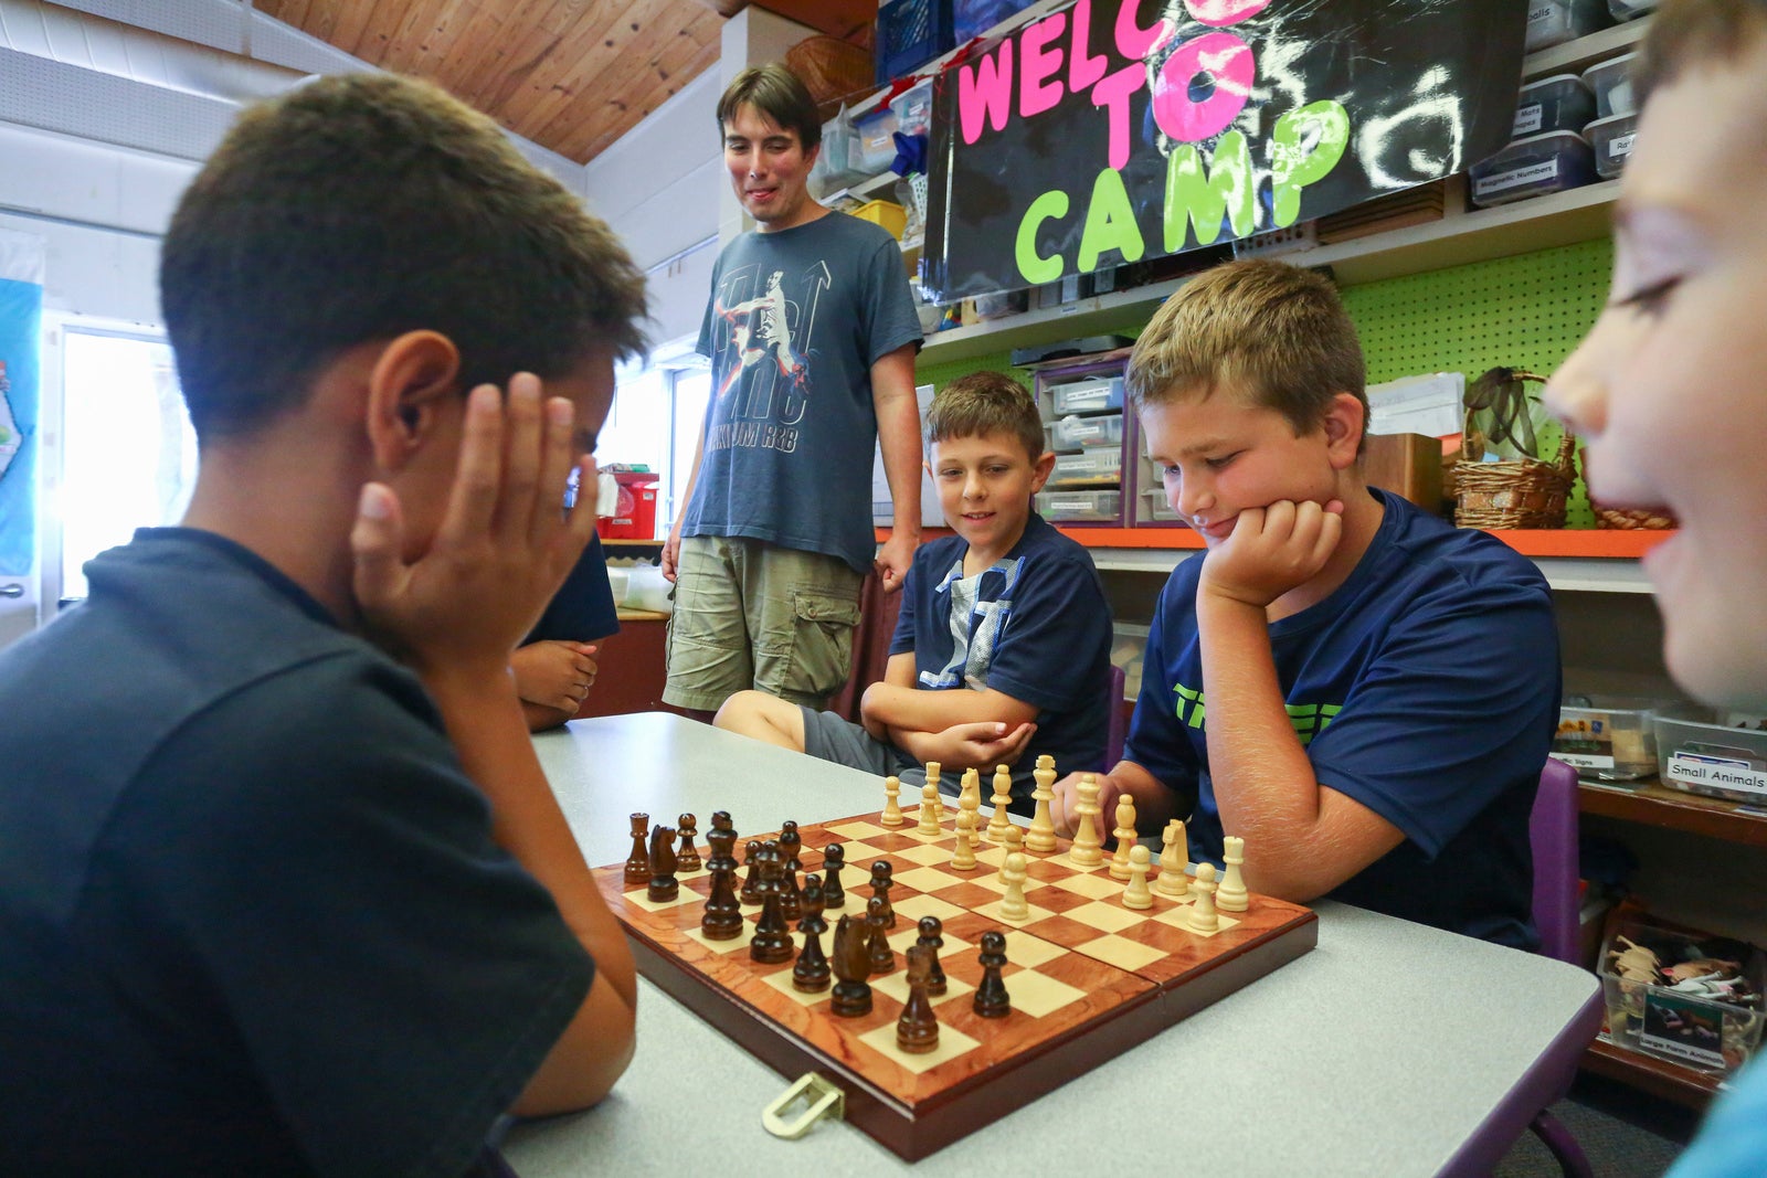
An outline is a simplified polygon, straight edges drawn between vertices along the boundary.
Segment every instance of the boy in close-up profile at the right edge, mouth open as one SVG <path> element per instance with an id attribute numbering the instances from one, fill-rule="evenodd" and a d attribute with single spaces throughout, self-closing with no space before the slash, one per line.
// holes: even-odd
<path id="1" fill-rule="evenodd" d="M 1583 438 L 1594 498 L 1680 523 L 1645 556 L 1670 673 L 1714 706 L 1767 712 L 1767 2 L 1666 0 L 1636 65 L 1613 291 L 1546 401 Z M 1668 1178 L 1762 1173 L 1756 1058 Z"/>

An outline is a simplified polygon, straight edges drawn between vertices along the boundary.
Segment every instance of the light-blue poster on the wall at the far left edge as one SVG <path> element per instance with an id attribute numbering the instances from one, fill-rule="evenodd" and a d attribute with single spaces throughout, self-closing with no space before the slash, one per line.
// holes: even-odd
<path id="1" fill-rule="evenodd" d="M 42 238 L 0 230 L 0 578 L 28 578 L 37 549 L 37 350 Z"/>

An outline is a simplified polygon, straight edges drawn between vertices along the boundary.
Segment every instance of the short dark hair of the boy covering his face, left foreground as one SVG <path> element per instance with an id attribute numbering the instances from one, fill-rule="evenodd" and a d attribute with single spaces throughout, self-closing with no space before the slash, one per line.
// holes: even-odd
<path id="1" fill-rule="evenodd" d="M 431 328 L 461 389 L 643 351 L 645 279 L 495 122 L 394 74 L 249 108 L 178 201 L 161 306 L 198 436 L 306 401 L 357 344 Z"/>

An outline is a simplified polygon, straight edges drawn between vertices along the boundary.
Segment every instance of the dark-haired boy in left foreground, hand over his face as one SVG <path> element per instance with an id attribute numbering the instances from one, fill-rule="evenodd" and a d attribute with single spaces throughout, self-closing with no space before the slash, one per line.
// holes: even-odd
<path id="1" fill-rule="evenodd" d="M 509 657 L 643 279 L 491 120 L 350 74 L 240 117 L 161 298 L 189 514 L 0 657 L 0 1171 L 488 1173 L 633 1051 Z"/>

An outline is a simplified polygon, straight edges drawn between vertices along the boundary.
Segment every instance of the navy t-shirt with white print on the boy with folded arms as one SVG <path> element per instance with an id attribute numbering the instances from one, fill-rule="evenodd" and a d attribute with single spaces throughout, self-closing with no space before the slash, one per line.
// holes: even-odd
<path id="1" fill-rule="evenodd" d="M 1110 606 L 1092 555 L 1037 512 L 991 569 L 963 576 L 963 537 L 914 555 L 891 655 L 914 652 L 921 691 L 998 692 L 1037 706 L 1037 733 L 1012 766 L 1014 798 L 1039 754 L 1057 774 L 1104 768 L 1110 726 Z"/>

